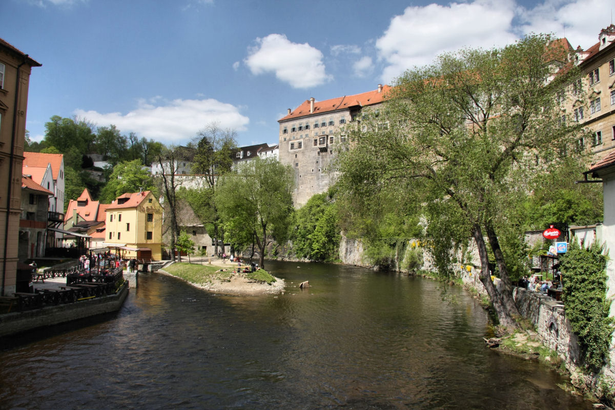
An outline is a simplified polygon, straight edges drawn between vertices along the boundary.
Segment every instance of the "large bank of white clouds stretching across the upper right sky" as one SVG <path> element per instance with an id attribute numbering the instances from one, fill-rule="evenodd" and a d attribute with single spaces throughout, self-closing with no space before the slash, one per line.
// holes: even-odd
<path id="1" fill-rule="evenodd" d="M 573 47 L 587 49 L 611 23 L 611 7 L 604 0 L 544 0 L 530 8 L 514 0 L 407 7 L 376 41 L 378 58 L 386 65 L 382 79 L 390 83 L 406 69 L 428 65 L 444 52 L 501 47 L 529 33 L 565 36 Z"/>

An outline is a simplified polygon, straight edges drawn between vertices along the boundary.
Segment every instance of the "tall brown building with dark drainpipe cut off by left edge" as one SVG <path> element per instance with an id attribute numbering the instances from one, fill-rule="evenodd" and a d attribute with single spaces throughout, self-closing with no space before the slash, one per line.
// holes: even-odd
<path id="1" fill-rule="evenodd" d="M 0 296 L 15 292 L 28 85 L 40 66 L 0 39 Z"/>

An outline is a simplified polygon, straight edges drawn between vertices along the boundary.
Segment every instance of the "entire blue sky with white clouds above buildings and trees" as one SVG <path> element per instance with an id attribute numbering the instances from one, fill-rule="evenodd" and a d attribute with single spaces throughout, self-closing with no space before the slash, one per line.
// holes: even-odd
<path id="1" fill-rule="evenodd" d="M 26 128 L 51 116 L 185 144 L 216 121 L 239 145 L 277 143 L 287 108 L 375 90 L 461 47 L 526 33 L 586 49 L 605 0 L 0 0 L 0 37 L 42 67 Z"/>

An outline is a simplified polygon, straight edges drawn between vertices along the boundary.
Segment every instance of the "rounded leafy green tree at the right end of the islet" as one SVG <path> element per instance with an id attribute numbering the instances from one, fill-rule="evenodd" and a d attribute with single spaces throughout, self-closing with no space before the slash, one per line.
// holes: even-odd
<path id="1" fill-rule="evenodd" d="M 218 181 L 215 203 L 221 219 L 254 235 L 261 267 L 268 243 L 288 237 L 294 184 L 295 171 L 290 165 L 260 157 L 238 164 L 237 171 L 220 176 Z"/>

